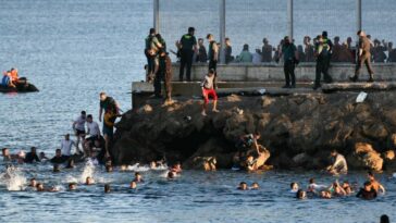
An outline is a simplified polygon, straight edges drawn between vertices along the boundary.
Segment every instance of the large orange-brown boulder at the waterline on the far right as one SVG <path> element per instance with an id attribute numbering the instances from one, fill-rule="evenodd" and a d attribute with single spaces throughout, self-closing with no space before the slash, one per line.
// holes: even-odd
<path id="1" fill-rule="evenodd" d="M 357 143 L 352 148 L 352 152 L 347 158 L 350 168 L 357 170 L 382 171 L 383 159 L 370 144 Z"/>

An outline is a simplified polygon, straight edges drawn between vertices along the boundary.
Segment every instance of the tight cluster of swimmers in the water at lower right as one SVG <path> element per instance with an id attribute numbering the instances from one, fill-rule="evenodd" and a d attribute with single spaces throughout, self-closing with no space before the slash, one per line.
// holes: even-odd
<path id="1" fill-rule="evenodd" d="M 356 197 L 372 200 L 378 197 L 381 193 L 385 194 L 384 186 L 375 179 L 372 172 L 368 172 L 368 181 L 364 182 L 363 187 L 358 188 L 357 183 L 350 184 L 348 181 L 339 183 L 337 179 L 334 181 L 330 186 L 320 185 L 315 183 L 314 178 L 309 179 L 309 185 L 307 189 L 299 188 L 296 182 L 290 184 L 290 193 L 296 196 L 297 199 L 306 198 L 323 198 L 331 199 L 334 197 L 345 197 L 350 195 L 356 195 Z"/>

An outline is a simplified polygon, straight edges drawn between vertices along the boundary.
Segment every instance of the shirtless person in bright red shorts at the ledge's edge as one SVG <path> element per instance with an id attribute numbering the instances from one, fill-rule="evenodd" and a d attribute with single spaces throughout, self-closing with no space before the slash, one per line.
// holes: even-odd
<path id="1" fill-rule="evenodd" d="M 216 83 L 215 83 L 215 71 L 213 69 L 209 70 L 209 73 L 205 76 L 203 82 L 201 83 L 202 87 L 202 96 L 203 96 L 203 104 L 202 112 L 203 116 L 207 115 L 207 107 L 209 103 L 209 96 L 213 98 L 213 112 L 219 112 L 218 107 L 218 94 L 215 92 Z"/>

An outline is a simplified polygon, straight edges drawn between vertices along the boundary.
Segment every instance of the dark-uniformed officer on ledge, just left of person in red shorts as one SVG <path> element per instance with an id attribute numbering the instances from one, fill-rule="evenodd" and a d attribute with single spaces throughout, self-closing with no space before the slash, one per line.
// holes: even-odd
<path id="1" fill-rule="evenodd" d="M 194 36 L 195 28 L 189 27 L 188 34 L 182 36 L 180 41 L 180 52 L 181 52 L 181 70 L 180 70 L 180 80 L 183 82 L 184 69 L 186 67 L 187 82 L 191 82 L 191 65 L 194 51 L 197 52 L 197 39 Z"/>

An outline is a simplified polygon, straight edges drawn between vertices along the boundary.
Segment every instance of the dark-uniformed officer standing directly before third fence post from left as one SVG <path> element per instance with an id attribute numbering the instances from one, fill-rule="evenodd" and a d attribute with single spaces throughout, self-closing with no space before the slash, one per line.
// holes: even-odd
<path id="1" fill-rule="evenodd" d="M 286 85 L 283 88 L 295 88 L 296 87 L 296 75 L 295 69 L 298 64 L 298 51 L 296 46 L 290 41 L 290 38 L 286 36 L 282 46 L 280 58 L 283 55 L 284 59 L 284 72 Z"/>

